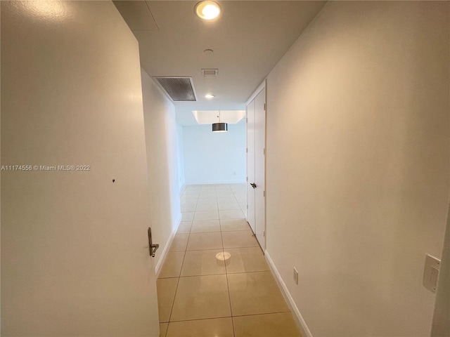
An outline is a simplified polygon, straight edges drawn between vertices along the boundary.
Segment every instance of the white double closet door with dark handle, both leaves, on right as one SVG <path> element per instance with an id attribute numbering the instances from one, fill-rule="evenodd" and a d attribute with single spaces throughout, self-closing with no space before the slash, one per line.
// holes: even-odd
<path id="1" fill-rule="evenodd" d="M 259 90 L 247 107 L 247 220 L 264 251 L 266 91 L 264 87 Z"/>

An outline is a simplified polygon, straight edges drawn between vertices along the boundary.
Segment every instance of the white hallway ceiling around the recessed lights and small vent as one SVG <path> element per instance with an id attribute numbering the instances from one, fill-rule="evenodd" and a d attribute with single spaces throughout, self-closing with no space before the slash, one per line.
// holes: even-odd
<path id="1" fill-rule="evenodd" d="M 150 77 L 193 78 L 197 102 L 174 103 L 176 121 L 184 126 L 197 125 L 193 110 L 245 110 L 253 91 L 325 4 L 217 1 L 221 15 L 205 21 L 194 13 L 197 2 L 114 1 L 139 41 L 141 65 Z M 219 74 L 203 77 L 203 68 Z M 214 99 L 205 99 L 206 93 Z"/>

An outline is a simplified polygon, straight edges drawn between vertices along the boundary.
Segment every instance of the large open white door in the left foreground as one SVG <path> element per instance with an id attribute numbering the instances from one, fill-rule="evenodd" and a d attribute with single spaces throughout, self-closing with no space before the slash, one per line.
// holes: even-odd
<path id="1" fill-rule="evenodd" d="M 89 166 L 1 171 L 1 336 L 159 336 L 136 39 L 110 1 L 1 24 L 1 164 Z"/>

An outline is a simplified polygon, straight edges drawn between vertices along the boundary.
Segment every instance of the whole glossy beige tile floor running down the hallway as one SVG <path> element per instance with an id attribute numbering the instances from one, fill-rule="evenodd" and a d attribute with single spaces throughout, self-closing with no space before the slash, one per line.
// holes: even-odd
<path id="1" fill-rule="evenodd" d="M 245 220 L 245 193 L 243 184 L 186 187 L 157 281 L 160 336 L 301 336 Z"/>

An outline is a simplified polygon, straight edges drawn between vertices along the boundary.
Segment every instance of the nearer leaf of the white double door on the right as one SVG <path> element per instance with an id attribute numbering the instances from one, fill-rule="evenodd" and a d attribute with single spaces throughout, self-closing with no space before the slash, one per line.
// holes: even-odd
<path id="1" fill-rule="evenodd" d="M 255 223 L 256 238 L 262 250 L 266 249 L 264 238 L 266 230 L 265 207 L 265 137 L 266 137 L 266 90 L 255 98 Z"/>

